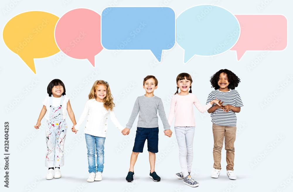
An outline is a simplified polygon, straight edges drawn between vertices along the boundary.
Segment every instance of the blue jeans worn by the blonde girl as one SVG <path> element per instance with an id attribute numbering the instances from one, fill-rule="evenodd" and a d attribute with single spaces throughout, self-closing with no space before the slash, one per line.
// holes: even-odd
<path id="1" fill-rule="evenodd" d="M 105 137 L 97 137 L 85 134 L 86 148 L 88 149 L 88 172 L 103 173 L 104 169 L 104 144 Z M 97 166 L 96 166 L 96 153 L 97 153 Z"/>

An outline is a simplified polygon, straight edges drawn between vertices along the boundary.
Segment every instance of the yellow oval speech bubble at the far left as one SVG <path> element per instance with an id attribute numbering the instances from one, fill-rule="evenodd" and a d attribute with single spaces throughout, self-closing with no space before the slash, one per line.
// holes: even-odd
<path id="1" fill-rule="evenodd" d="M 6 46 L 35 74 L 34 58 L 49 57 L 60 51 L 54 38 L 58 19 L 47 12 L 29 11 L 11 18 L 3 29 Z"/>

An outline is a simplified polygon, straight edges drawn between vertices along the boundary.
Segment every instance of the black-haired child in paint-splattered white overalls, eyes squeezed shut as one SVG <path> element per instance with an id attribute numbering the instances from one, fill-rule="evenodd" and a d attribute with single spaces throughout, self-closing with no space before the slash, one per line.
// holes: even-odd
<path id="1" fill-rule="evenodd" d="M 69 97 L 65 93 L 64 83 L 61 80 L 52 80 L 47 86 L 47 93 L 49 95 L 43 101 L 43 108 L 34 127 L 39 129 L 41 120 L 45 116 L 47 120 L 45 127 L 47 144 L 45 166 L 49 168 L 46 179 L 52 179 L 53 177 L 61 177 L 60 167 L 64 165 L 64 142 L 67 130 L 65 118 L 67 112 L 74 125 L 76 121 Z"/>

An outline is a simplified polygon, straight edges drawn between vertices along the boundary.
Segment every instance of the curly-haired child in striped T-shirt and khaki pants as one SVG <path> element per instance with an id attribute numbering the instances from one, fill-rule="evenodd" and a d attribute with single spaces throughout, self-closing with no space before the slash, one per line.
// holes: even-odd
<path id="1" fill-rule="evenodd" d="M 240 79 L 232 71 L 222 69 L 211 77 L 210 82 L 215 91 L 209 94 L 207 103 L 214 99 L 222 101 L 221 107 L 214 104 L 207 110 L 207 112 L 211 113 L 214 135 L 214 170 L 212 171 L 211 177 L 218 178 L 220 175 L 221 151 L 225 137 L 227 176 L 229 179 L 237 179 L 233 169 L 236 113 L 240 112 L 240 107 L 243 106 L 243 103 L 239 93 L 234 89 L 238 86 Z"/>

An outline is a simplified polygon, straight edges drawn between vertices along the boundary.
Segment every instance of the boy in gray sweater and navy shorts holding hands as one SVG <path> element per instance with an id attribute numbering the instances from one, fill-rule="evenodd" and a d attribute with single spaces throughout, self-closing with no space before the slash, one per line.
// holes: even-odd
<path id="1" fill-rule="evenodd" d="M 151 166 L 149 178 L 153 181 L 160 181 L 161 178 L 155 172 L 155 160 L 156 153 L 158 152 L 159 141 L 159 124 L 157 112 L 162 120 L 164 126 L 165 135 L 169 133 L 169 137 L 172 135 L 170 125 L 166 118 L 166 114 L 163 107 L 163 102 L 159 97 L 154 95 L 154 90 L 158 87 L 158 80 L 153 75 L 148 75 L 144 78 L 143 88 L 146 94 L 137 97 L 134 107 L 129 118 L 126 128 L 122 130 L 122 134 L 127 135 L 134 123 L 134 120 L 139 113 L 137 122 L 137 131 L 134 141 L 134 147 L 130 158 L 130 168 L 126 177 L 126 181 L 133 181 L 134 176 L 134 164 L 137 160 L 139 153 L 142 153 L 144 148 L 144 142 L 147 139 L 147 148 L 149 151 L 149 164 Z"/>

